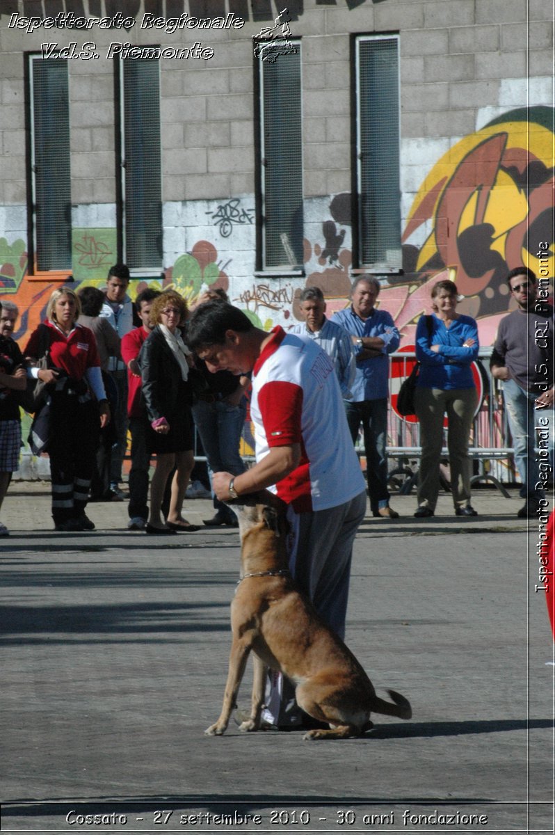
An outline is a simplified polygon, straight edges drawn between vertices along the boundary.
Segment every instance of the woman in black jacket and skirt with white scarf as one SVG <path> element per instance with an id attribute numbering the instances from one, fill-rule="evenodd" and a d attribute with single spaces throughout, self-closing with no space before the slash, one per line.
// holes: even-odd
<path id="1" fill-rule="evenodd" d="M 188 382 L 192 357 L 179 331 L 179 325 L 186 317 L 187 305 L 179 293 L 165 291 L 154 299 L 150 311 L 154 330 L 139 355 L 150 446 L 156 453 L 147 534 L 199 530 L 182 516 L 185 490 L 194 464 L 192 391 Z M 162 502 L 169 474 L 174 468 L 169 511 L 164 523 Z"/>

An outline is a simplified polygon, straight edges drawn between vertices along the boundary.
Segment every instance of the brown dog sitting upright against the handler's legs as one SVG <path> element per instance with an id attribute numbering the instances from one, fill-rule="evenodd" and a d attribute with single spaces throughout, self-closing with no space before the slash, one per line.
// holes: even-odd
<path id="1" fill-rule="evenodd" d="M 231 604 L 230 669 L 222 712 L 204 732 L 210 736 L 225 732 L 250 650 L 255 654 L 252 704 L 241 731 L 260 727 L 267 666 L 295 684 L 295 698 L 303 711 L 329 723 L 329 729 L 308 731 L 304 739 L 361 736 L 372 726 L 371 711 L 410 719 L 411 705 L 404 696 L 388 691 L 395 704 L 376 696 L 351 650 L 295 588 L 285 549 L 285 503 L 268 491 L 235 501 L 241 503 L 232 507 L 239 519 L 242 547 L 241 579 Z"/>

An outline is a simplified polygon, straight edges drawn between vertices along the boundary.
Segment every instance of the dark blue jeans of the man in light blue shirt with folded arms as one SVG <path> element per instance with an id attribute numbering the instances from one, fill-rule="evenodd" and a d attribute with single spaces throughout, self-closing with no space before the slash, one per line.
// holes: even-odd
<path id="1" fill-rule="evenodd" d="M 360 402 L 350 400 L 343 402 L 353 443 L 356 442 L 362 423 L 370 509 L 372 513 L 376 513 L 376 510 L 387 507 L 389 503 L 386 456 L 387 397 Z"/>

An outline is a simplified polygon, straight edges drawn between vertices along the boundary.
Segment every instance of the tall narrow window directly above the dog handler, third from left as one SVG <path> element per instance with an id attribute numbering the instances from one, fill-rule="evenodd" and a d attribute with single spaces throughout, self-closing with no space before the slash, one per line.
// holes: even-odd
<path id="1" fill-rule="evenodd" d="M 260 78 L 259 266 L 294 271 L 303 264 L 300 42 L 256 48 Z"/>

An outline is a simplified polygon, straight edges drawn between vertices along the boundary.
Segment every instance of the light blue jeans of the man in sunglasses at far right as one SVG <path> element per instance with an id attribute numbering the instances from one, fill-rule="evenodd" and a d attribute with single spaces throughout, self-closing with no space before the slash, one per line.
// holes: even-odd
<path id="1" fill-rule="evenodd" d="M 538 394 L 526 392 L 514 380 L 503 382 L 515 464 L 522 481 L 520 494 L 532 501 L 544 496 L 547 481 L 552 480 L 553 465 L 553 410 L 534 408 Z M 542 425 L 540 420 L 547 423 Z M 537 429 L 540 430 L 539 438 Z M 550 468 L 548 479 L 547 467 Z"/>

